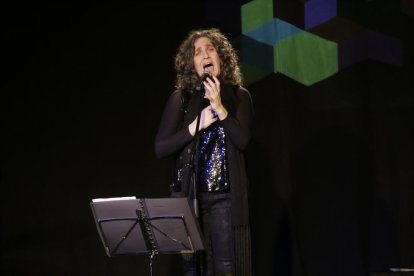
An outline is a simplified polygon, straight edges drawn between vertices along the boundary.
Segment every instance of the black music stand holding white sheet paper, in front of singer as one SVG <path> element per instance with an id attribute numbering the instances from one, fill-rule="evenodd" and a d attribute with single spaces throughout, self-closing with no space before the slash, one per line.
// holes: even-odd
<path id="1" fill-rule="evenodd" d="M 106 254 L 149 254 L 151 275 L 157 254 L 204 250 L 199 224 L 185 197 L 93 199 L 90 206 Z"/>

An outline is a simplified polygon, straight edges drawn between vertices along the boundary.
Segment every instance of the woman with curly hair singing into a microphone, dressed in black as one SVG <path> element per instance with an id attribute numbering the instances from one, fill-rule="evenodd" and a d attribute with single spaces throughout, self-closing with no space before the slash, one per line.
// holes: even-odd
<path id="1" fill-rule="evenodd" d="M 182 254 L 184 273 L 251 275 L 244 150 L 253 104 L 237 54 L 220 30 L 193 30 L 177 49 L 175 70 L 154 145 L 157 157 L 174 160 L 171 196 L 197 203 L 206 250 Z"/>

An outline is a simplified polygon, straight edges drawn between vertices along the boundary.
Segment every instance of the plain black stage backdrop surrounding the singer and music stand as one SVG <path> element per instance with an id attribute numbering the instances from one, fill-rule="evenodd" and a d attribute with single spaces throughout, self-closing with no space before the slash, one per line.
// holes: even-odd
<path id="1" fill-rule="evenodd" d="M 400 39 L 404 62 L 365 60 L 310 87 L 281 74 L 247 86 L 255 275 L 414 267 L 414 18 L 400 1 L 338 2 L 348 19 Z M 168 197 L 171 161 L 155 157 L 153 140 L 176 48 L 198 27 L 239 35 L 205 10 L 4 6 L 2 273 L 149 275 L 148 256 L 105 255 L 89 202 Z M 179 272 L 179 255 L 157 256 L 154 275 Z"/>

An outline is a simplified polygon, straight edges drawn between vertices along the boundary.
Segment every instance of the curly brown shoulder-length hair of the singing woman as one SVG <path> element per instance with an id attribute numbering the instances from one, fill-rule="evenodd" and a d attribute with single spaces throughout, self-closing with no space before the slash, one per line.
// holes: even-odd
<path id="1" fill-rule="evenodd" d="M 200 37 L 211 40 L 220 58 L 221 82 L 241 86 L 242 74 L 236 51 L 227 37 L 217 28 L 192 30 L 178 47 L 175 56 L 176 80 L 175 88 L 192 91 L 198 84 L 199 76 L 194 67 L 194 43 Z"/>

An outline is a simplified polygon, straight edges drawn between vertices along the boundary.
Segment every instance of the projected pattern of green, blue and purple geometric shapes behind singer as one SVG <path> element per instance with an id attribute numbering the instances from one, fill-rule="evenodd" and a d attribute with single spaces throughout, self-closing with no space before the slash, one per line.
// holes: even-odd
<path id="1" fill-rule="evenodd" d="M 310 86 L 366 59 L 402 64 L 399 39 L 339 17 L 337 0 L 239 0 L 220 13 L 211 5 L 207 14 L 225 24 L 240 19 L 235 47 L 247 84 L 280 73 Z"/>

